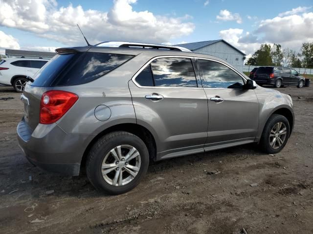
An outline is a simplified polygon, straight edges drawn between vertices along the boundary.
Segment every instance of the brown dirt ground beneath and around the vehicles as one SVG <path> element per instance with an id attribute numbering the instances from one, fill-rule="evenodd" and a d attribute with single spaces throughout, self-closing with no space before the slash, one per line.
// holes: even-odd
<path id="1" fill-rule="evenodd" d="M 20 94 L 0 87 L 14 98 L 0 100 L 0 233 L 313 233 L 312 86 L 279 89 L 295 111 L 282 152 L 250 144 L 156 162 L 117 196 L 28 163 L 16 140 Z"/>

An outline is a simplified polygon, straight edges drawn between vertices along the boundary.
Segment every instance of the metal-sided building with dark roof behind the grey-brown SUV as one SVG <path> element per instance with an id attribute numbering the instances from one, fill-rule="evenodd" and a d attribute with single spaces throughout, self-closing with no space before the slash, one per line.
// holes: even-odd
<path id="1" fill-rule="evenodd" d="M 223 39 L 178 44 L 177 46 L 185 47 L 195 53 L 212 55 L 224 59 L 239 71 L 243 71 L 246 54 Z"/>

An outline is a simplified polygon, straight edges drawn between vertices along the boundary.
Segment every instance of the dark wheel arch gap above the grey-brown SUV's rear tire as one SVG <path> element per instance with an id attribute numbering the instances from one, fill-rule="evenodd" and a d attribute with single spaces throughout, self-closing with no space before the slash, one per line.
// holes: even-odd
<path id="1" fill-rule="evenodd" d="M 99 134 L 97 134 L 88 144 L 87 148 L 84 151 L 84 154 L 81 159 L 81 166 L 80 169 L 82 171 L 82 168 L 86 165 L 86 160 L 88 153 L 90 151 L 90 148 L 92 145 L 100 138 L 103 137 L 106 134 L 116 132 L 116 131 L 124 131 L 134 134 L 135 136 L 139 137 L 143 140 L 145 145 L 147 146 L 148 152 L 149 152 L 149 158 L 152 160 L 156 159 L 156 140 L 155 137 L 152 135 L 152 133 L 142 125 L 136 124 L 136 123 L 121 123 L 113 125 Z"/>

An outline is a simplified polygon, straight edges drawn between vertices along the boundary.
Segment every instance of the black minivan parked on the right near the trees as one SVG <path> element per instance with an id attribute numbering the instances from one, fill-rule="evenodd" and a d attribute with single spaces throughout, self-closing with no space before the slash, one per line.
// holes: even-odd
<path id="1" fill-rule="evenodd" d="M 259 67 L 252 78 L 259 85 L 269 84 L 275 88 L 283 85 L 295 85 L 302 88 L 305 78 L 289 67 Z"/>

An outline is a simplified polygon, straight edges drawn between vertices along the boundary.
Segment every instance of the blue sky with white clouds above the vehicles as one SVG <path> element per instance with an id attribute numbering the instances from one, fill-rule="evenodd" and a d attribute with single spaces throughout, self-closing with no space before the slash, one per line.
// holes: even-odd
<path id="1" fill-rule="evenodd" d="M 224 39 L 250 57 L 313 42 L 313 0 L 0 0 L 0 53 L 86 45 L 76 23 L 90 44 Z"/>

